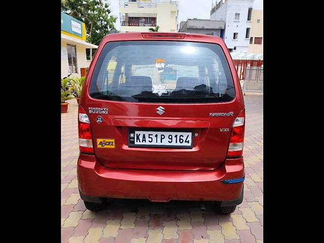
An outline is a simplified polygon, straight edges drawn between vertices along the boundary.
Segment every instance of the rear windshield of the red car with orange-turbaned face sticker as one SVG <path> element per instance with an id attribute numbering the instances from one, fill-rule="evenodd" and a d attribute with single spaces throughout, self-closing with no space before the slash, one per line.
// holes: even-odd
<path id="1" fill-rule="evenodd" d="M 214 103 L 232 100 L 234 87 L 219 45 L 123 41 L 104 46 L 90 96 L 127 102 Z"/>

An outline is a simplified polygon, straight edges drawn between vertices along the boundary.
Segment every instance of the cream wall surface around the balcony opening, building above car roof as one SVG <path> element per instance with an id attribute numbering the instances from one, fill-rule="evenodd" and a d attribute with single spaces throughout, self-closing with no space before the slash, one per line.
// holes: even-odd
<path id="1" fill-rule="evenodd" d="M 178 6 L 175 4 L 156 4 L 156 8 L 138 8 L 137 3 L 128 3 L 128 7 L 119 6 L 120 13 L 156 13 L 156 25 L 159 32 L 177 32 Z M 120 26 L 121 32 L 147 32 L 151 26 Z"/>

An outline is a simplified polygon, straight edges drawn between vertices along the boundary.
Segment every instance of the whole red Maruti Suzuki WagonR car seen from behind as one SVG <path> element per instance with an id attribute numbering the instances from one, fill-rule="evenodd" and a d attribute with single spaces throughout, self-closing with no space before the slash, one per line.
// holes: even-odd
<path id="1" fill-rule="evenodd" d="M 77 179 L 87 209 L 106 198 L 243 198 L 245 106 L 223 40 L 194 33 L 106 35 L 78 110 Z"/>

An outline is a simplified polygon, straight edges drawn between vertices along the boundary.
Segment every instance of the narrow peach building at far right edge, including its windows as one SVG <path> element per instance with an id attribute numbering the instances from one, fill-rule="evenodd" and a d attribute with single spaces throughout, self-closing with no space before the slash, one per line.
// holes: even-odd
<path id="1" fill-rule="evenodd" d="M 263 10 L 253 10 L 249 53 L 263 53 Z"/>

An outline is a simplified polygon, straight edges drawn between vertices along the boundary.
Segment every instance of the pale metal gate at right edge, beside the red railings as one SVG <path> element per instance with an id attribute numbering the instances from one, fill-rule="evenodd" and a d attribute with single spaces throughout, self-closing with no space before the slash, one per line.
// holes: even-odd
<path id="1" fill-rule="evenodd" d="M 246 67 L 243 93 L 263 92 L 263 67 Z"/>

